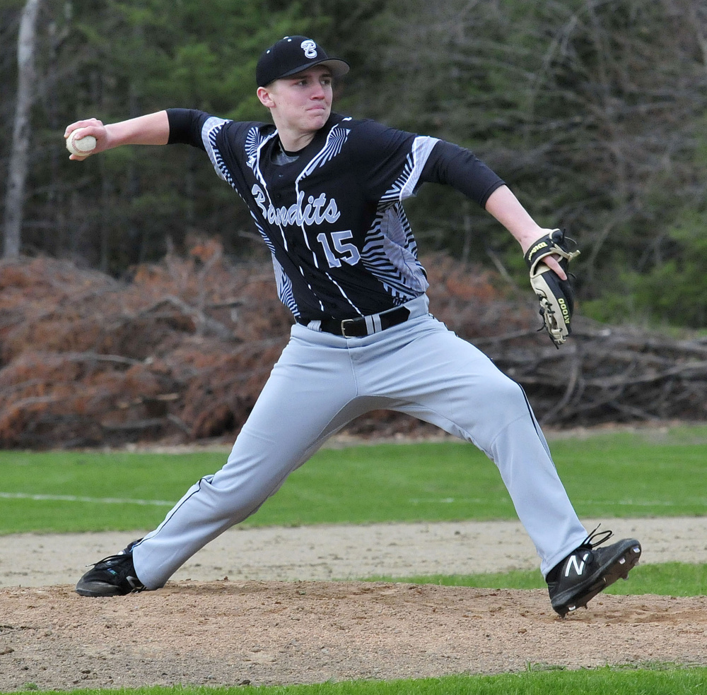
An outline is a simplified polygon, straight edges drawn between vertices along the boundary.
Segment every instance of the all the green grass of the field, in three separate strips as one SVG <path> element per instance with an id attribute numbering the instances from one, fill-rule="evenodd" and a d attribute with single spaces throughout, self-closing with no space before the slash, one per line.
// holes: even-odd
<path id="1" fill-rule="evenodd" d="M 707 428 L 606 434 L 551 445 L 580 516 L 703 516 L 707 509 Z M 0 533 L 151 528 L 221 453 L 0 452 Z M 495 466 L 474 447 L 406 444 L 326 449 L 297 470 L 250 525 L 452 521 L 515 518 Z M 638 566 L 610 592 L 703 595 L 707 566 Z M 397 580 L 399 581 L 399 580 Z M 539 588 L 537 572 L 413 577 L 405 581 Z M 642 669 L 537 671 L 495 677 L 300 687 L 144 688 L 132 695 L 604 695 L 707 692 L 707 669 L 645 664 Z M 0 690 L 1 690 L 0 685 Z M 25 684 L 28 691 L 37 691 Z M 75 691 L 82 695 L 110 691 Z M 115 691 L 113 691 L 115 692 Z M 126 692 L 126 691 L 121 691 Z"/>

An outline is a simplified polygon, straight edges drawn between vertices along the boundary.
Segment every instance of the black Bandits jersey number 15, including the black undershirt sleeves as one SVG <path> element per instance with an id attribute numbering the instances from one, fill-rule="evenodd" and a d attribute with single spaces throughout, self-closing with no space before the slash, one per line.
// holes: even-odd
<path id="1" fill-rule="evenodd" d="M 206 151 L 267 244 L 281 301 L 301 323 L 377 314 L 427 287 L 403 201 L 425 181 L 481 205 L 503 182 L 468 150 L 332 114 L 286 153 L 272 124 L 168 109 L 170 143 Z"/>

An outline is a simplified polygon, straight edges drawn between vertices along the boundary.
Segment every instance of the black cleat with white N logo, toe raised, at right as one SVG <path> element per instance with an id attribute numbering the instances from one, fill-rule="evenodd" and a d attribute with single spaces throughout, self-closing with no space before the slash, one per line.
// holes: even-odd
<path id="1" fill-rule="evenodd" d="M 641 543 L 634 538 L 624 538 L 605 548 L 597 548 L 612 535 L 612 531 L 597 533 L 595 528 L 577 550 L 549 571 L 546 581 L 550 602 L 560 617 L 586 608 L 607 586 L 619 578 L 629 578 L 629 571 L 641 557 Z M 597 536 L 600 539 L 592 542 Z"/>

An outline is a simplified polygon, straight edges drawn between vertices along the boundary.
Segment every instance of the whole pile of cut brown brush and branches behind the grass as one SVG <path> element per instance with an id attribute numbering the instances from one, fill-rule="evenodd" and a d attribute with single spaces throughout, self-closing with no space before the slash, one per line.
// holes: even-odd
<path id="1" fill-rule="evenodd" d="M 520 381 L 561 425 L 702 420 L 707 345 L 578 318 L 561 350 L 537 307 L 491 273 L 423 259 L 431 311 Z M 286 344 L 292 319 L 269 263 L 234 265 L 218 243 L 118 281 L 66 261 L 0 264 L 0 446 L 57 448 L 231 440 Z M 349 432 L 436 432 L 376 411 Z"/>

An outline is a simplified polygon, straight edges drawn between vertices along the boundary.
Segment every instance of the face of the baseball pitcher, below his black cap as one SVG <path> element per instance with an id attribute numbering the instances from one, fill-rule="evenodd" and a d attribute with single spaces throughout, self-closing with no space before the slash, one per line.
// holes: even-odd
<path id="1" fill-rule="evenodd" d="M 312 133 L 324 126 L 332 112 L 332 73 L 325 66 L 276 80 L 267 91 L 278 129 Z"/>

